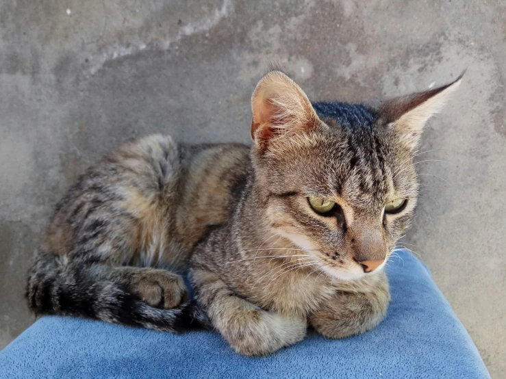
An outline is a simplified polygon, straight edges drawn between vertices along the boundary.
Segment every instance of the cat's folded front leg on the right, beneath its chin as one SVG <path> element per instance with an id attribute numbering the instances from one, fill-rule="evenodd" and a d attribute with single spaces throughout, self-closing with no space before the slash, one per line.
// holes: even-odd
<path id="1" fill-rule="evenodd" d="M 390 302 L 384 272 L 366 283 L 342 283 L 337 287 L 333 298 L 309 316 L 320 334 L 340 339 L 367 332 L 381 322 Z"/>

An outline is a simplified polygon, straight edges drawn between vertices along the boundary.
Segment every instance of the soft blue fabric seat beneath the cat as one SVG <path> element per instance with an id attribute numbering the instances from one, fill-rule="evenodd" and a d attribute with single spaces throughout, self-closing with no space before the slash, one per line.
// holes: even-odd
<path id="1" fill-rule="evenodd" d="M 0 378 L 490 378 L 425 265 L 398 253 L 388 267 L 388 316 L 365 335 L 309 332 L 276 354 L 246 358 L 212 332 L 42 317 L 0 352 Z"/>

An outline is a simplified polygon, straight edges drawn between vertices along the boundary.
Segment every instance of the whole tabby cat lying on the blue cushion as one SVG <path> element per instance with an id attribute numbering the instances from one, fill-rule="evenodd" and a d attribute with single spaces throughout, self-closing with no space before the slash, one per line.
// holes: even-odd
<path id="1" fill-rule="evenodd" d="M 390 302 L 383 266 L 416 207 L 422 127 L 461 77 L 386 101 L 312 104 L 270 70 L 252 96 L 252 146 L 126 142 L 56 206 L 29 308 L 214 328 L 250 356 L 308 326 L 334 339 L 374 328 Z"/>

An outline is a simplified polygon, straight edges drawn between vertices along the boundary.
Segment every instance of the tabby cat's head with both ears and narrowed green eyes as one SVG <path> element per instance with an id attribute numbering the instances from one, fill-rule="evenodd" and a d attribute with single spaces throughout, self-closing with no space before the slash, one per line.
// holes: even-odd
<path id="1" fill-rule="evenodd" d="M 251 136 L 269 227 L 329 276 L 379 272 L 413 217 L 422 127 L 460 79 L 376 103 L 312 105 L 286 75 L 267 73 L 253 93 Z"/>

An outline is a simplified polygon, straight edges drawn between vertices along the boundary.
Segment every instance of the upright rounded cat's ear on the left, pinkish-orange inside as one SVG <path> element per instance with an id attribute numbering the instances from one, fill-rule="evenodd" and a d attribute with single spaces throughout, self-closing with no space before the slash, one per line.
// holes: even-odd
<path id="1" fill-rule="evenodd" d="M 251 96 L 251 138 L 265 149 L 273 138 L 316 127 L 318 116 L 306 94 L 281 71 L 267 73 Z"/>

